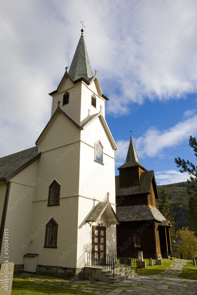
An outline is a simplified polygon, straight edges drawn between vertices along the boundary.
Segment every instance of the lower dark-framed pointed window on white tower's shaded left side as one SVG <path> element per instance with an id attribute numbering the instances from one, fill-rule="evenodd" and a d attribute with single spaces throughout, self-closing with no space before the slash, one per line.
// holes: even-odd
<path id="1" fill-rule="evenodd" d="M 46 224 L 44 248 L 57 248 L 58 224 L 52 217 Z"/>

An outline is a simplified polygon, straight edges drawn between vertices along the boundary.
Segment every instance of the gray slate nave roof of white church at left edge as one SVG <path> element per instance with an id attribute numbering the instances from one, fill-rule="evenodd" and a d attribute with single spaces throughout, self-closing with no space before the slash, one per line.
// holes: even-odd
<path id="1" fill-rule="evenodd" d="M 21 167 L 38 154 L 38 146 L 0 158 L 0 179 Z"/>

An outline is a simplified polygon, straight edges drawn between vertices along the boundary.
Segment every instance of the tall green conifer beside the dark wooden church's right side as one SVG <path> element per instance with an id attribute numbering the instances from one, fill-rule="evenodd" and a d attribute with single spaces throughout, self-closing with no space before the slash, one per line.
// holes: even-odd
<path id="1" fill-rule="evenodd" d="M 160 208 L 161 213 L 163 216 L 170 221 L 172 224 L 172 227 L 170 227 L 170 238 L 171 238 L 171 243 L 174 242 L 175 239 L 175 221 L 174 221 L 174 216 L 176 213 L 172 211 L 173 207 L 170 206 L 169 200 L 168 200 L 168 194 L 165 189 L 163 188 L 163 196 L 162 196 L 162 206 Z"/>

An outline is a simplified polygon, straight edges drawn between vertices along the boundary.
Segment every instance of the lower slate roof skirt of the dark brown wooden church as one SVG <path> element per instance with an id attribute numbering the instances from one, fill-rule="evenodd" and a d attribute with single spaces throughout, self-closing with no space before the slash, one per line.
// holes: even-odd
<path id="1" fill-rule="evenodd" d="M 150 205 L 117 207 L 116 215 L 120 221 L 166 220 L 157 208 Z"/>

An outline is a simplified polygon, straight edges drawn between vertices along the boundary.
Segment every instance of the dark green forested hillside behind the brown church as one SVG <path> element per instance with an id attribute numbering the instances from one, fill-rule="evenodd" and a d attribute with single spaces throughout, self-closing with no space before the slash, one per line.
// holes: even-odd
<path id="1" fill-rule="evenodd" d="M 186 181 L 157 186 L 159 192 L 159 199 L 157 200 L 157 204 L 159 208 L 161 207 L 163 187 L 166 188 L 167 193 L 169 194 L 169 204 L 174 208 L 173 212 L 176 213 L 174 217 L 175 231 L 180 230 L 182 227 L 188 226 L 189 195 L 186 191 L 187 186 L 188 183 Z"/>

